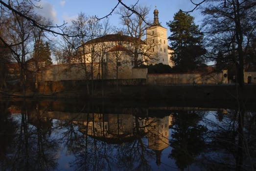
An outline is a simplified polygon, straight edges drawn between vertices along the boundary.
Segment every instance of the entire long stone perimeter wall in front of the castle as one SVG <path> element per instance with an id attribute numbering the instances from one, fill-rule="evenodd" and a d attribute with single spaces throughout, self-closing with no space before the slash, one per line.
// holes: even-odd
<path id="1" fill-rule="evenodd" d="M 68 80 L 87 80 L 91 79 L 91 64 L 87 64 L 87 74 L 85 74 L 83 64 L 61 64 L 51 65 L 43 68 L 39 73 L 39 82 L 45 81 L 68 81 Z M 116 80 L 115 70 L 110 66 L 104 66 L 105 71 L 104 79 Z M 120 69 L 120 70 L 119 70 Z M 167 74 L 148 74 L 147 68 L 130 68 L 128 66 L 122 66 L 118 70 L 118 82 L 121 85 L 133 85 L 134 83 L 122 83 L 130 82 L 134 79 L 147 80 L 148 85 L 179 85 L 179 84 L 226 84 L 224 82 L 224 72 L 221 73 L 167 73 Z M 251 74 L 252 83 L 256 81 L 255 73 L 245 74 L 245 78 Z M 254 75 L 255 74 L 255 75 Z M 101 67 L 98 63 L 93 64 L 93 79 L 101 80 Z M 247 79 L 248 80 L 248 79 Z M 245 80 L 245 83 L 247 83 Z M 137 83 L 135 83 L 137 84 Z M 54 90 L 53 90 L 54 91 Z"/>

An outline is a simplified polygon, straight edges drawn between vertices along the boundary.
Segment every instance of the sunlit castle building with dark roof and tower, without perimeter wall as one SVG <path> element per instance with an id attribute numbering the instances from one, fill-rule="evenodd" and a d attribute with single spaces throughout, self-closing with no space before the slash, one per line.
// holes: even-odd
<path id="1" fill-rule="evenodd" d="M 105 79 L 132 78 L 132 68 L 140 64 L 163 63 L 173 66 L 167 29 L 160 24 L 158 14 L 159 11 L 155 9 L 154 22 L 146 28 L 144 41 L 122 33 L 104 35 L 79 46 L 78 55 L 71 63 L 91 64 L 89 72 L 94 72 L 94 78 L 99 78 L 95 75 L 105 71 L 102 76 Z"/>

